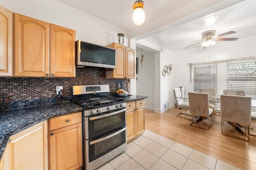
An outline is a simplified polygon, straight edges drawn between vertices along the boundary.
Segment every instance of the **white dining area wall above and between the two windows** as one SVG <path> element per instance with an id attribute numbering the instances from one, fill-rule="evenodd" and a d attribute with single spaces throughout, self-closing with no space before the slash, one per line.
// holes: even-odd
<path id="1" fill-rule="evenodd" d="M 175 88 L 179 86 L 184 87 L 185 95 L 193 91 L 193 84 L 190 83 L 190 68 L 188 63 L 209 61 L 209 52 L 210 61 L 256 56 L 256 36 L 238 39 L 235 42 L 217 42 L 215 45 L 206 49 L 198 47 L 175 52 L 175 65 L 173 66 L 175 72 Z M 219 64 L 217 69 L 218 94 L 222 94 L 223 89 L 226 89 L 226 64 Z"/>

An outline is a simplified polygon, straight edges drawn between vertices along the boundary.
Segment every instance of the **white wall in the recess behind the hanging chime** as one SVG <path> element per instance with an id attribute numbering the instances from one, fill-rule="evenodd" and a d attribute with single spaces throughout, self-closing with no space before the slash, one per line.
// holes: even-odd
<path id="1" fill-rule="evenodd" d="M 154 111 L 155 109 L 155 53 L 143 50 L 143 65 L 141 68 L 141 51 L 136 51 L 138 58 L 136 74 L 137 95 L 147 96 L 146 109 Z"/>

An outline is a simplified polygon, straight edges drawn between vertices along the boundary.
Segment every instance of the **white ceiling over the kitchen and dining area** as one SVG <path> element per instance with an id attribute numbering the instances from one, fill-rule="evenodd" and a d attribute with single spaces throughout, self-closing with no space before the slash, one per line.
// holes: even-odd
<path id="1" fill-rule="evenodd" d="M 201 40 L 201 33 L 208 30 L 216 30 L 216 35 L 236 32 L 224 38 L 256 36 L 256 0 L 144 0 L 146 19 L 141 26 L 132 21 L 135 0 L 60 1 L 128 30 L 129 38 L 139 40 L 138 43 L 146 41 L 171 51 L 183 50 L 195 43 L 191 41 Z M 216 22 L 206 26 L 206 18 L 210 16 Z M 226 41 L 217 43 L 223 42 Z M 194 47 L 201 45 L 186 49 Z"/>

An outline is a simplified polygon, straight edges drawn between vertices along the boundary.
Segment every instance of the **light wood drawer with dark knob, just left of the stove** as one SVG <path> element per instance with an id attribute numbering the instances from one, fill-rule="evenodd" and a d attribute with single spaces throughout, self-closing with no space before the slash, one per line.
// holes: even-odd
<path id="1" fill-rule="evenodd" d="M 54 117 L 49 119 L 49 131 L 58 128 L 68 127 L 82 122 L 82 113 L 72 113 L 69 115 Z"/>

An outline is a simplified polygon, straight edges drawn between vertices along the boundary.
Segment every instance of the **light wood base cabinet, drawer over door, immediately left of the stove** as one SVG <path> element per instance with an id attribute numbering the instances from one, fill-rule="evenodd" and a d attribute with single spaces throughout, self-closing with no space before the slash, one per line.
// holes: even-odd
<path id="1" fill-rule="evenodd" d="M 49 119 L 50 169 L 75 170 L 83 165 L 82 113 Z"/>

